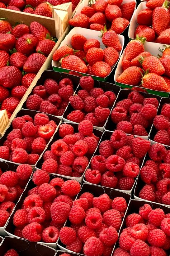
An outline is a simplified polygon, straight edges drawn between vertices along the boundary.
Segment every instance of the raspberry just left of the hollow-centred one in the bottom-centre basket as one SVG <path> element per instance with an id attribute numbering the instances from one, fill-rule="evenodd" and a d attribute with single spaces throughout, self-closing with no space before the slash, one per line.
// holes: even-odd
<path id="1" fill-rule="evenodd" d="M 80 224 L 86 217 L 85 211 L 81 206 L 73 206 L 69 213 L 69 220 L 72 224 Z"/>

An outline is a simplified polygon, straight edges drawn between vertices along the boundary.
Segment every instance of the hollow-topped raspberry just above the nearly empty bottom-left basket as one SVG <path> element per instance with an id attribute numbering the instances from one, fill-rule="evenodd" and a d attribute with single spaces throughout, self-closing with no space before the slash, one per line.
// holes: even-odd
<path id="1" fill-rule="evenodd" d="M 59 237 L 59 231 L 54 226 L 45 228 L 42 232 L 42 240 L 45 243 L 56 243 Z"/>

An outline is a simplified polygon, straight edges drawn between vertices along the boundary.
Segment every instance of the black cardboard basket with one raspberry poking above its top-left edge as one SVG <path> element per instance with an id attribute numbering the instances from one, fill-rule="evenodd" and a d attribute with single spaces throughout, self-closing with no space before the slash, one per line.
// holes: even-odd
<path id="1" fill-rule="evenodd" d="M 120 90 L 121 90 L 121 87 L 120 87 L 120 86 L 117 86 L 117 85 L 114 85 L 114 84 L 110 84 L 110 83 L 108 83 L 108 82 L 97 81 L 97 80 L 94 80 L 94 87 L 100 87 L 100 88 L 103 89 L 104 91 L 113 91 L 117 97 L 118 97 L 119 92 L 120 92 Z M 77 94 L 77 92 L 80 91 L 80 90 L 81 90 L 81 87 L 79 86 L 79 87 L 77 88 L 77 90 L 75 91 L 75 94 Z M 116 101 L 116 100 L 115 100 L 115 101 Z M 115 104 L 115 102 L 114 102 L 114 104 Z M 114 106 L 114 104 L 113 104 L 113 106 Z M 112 107 L 109 107 L 109 109 L 111 110 Z M 62 116 L 63 121 L 69 122 L 69 123 L 76 123 L 76 122 L 73 122 L 73 121 L 70 121 L 70 120 L 67 119 L 67 115 L 68 115 L 71 111 L 73 111 L 73 110 L 74 110 L 74 108 L 72 108 L 71 104 L 69 103 L 69 105 L 67 106 L 67 108 L 66 108 L 66 110 L 65 110 L 65 112 L 64 112 L 64 114 L 63 114 L 63 116 Z M 108 120 L 108 118 L 107 118 L 107 120 Z M 106 120 L 106 122 L 107 122 L 107 120 Z M 106 122 L 105 122 L 105 123 L 106 123 Z M 76 124 L 78 124 L 78 123 L 76 123 Z M 95 129 L 100 130 L 100 131 L 104 131 L 105 125 L 104 125 L 104 126 L 93 126 L 93 127 L 94 127 Z"/>

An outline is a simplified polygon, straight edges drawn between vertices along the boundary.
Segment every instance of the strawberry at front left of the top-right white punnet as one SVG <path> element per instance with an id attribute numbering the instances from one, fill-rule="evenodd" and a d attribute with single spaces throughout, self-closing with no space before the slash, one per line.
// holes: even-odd
<path id="1" fill-rule="evenodd" d="M 155 40 L 155 31 L 153 28 L 145 26 L 145 25 L 139 25 L 135 32 L 134 37 L 138 35 L 139 37 L 146 37 L 146 41 L 148 42 L 154 42 Z"/>

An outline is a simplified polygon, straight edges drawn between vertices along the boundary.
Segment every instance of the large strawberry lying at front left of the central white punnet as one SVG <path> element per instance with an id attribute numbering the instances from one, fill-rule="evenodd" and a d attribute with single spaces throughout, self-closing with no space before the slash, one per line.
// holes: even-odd
<path id="1" fill-rule="evenodd" d="M 63 58 L 61 67 L 81 73 L 86 73 L 88 71 L 88 68 L 86 67 L 83 60 L 81 60 L 79 57 L 75 55 L 68 55 L 65 58 Z"/>

